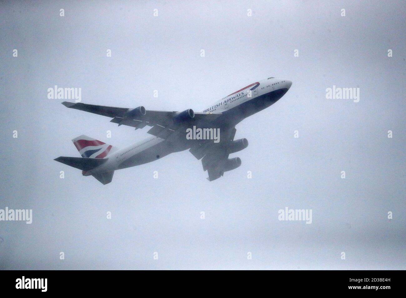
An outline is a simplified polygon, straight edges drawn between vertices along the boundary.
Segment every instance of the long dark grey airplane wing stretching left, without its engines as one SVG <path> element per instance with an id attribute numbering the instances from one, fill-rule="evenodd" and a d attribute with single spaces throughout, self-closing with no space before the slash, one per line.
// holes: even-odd
<path id="1" fill-rule="evenodd" d="M 102 116 L 107 116 L 113 118 L 110 122 L 117 123 L 120 125 L 127 125 L 135 127 L 135 129 L 143 128 L 145 126 L 155 126 L 158 125 L 157 131 L 161 131 L 161 128 L 170 129 L 173 125 L 173 117 L 176 115 L 177 111 L 154 111 L 146 110 L 145 115 L 134 116 L 131 119 L 125 119 L 124 115 L 129 108 L 125 107 L 108 107 L 105 105 L 90 105 L 86 103 L 70 103 L 64 101 L 62 103 L 65 107 L 71 109 L 78 109 L 81 111 L 86 111 L 93 114 L 98 114 Z M 194 113 L 194 121 L 211 121 L 220 116 L 221 113 L 207 114 L 207 113 Z M 151 131 L 151 130 L 150 130 Z M 154 131 L 148 132 L 152 135 Z"/>

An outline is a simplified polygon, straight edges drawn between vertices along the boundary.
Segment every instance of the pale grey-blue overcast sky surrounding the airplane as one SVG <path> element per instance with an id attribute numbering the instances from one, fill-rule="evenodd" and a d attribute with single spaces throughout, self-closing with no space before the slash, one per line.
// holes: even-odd
<path id="1" fill-rule="evenodd" d="M 406 269 L 405 6 L 2 1 L 0 209 L 33 219 L 0 221 L 0 269 Z M 293 85 L 236 126 L 249 146 L 218 180 L 188 151 L 107 185 L 53 160 L 79 157 L 82 134 L 119 148 L 149 136 L 48 99 L 54 85 L 84 103 L 201 111 L 270 76 Z M 326 99 L 333 85 L 360 101 Z M 279 221 L 285 207 L 312 223 Z"/>

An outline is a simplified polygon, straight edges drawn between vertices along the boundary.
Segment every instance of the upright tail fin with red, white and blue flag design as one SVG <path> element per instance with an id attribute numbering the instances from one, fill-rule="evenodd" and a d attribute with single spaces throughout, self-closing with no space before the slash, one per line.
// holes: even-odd
<path id="1" fill-rule="evenodd" d="M 105 158 L 109 153 L 117 150 L 116 147 L 86 135 L 80 135 L 79 137 L 74 138 L 72 141 L 76 146 L 76 149 L 78 149 L 80 155 L 84 158 L 102 159 Z"/>

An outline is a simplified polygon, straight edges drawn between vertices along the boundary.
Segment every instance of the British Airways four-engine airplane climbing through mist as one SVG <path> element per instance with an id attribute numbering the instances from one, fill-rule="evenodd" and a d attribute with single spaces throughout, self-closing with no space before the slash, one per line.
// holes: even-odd
<path id="1" fill-rule="evenodd" d="M 151 136 L 131 146 L 118 149 L 102 141 L 80 135 L 73 144 L 82 157 L 58 157 L 54 160 L 82 170 L 83 176 L 93 176 L 102 184 L 112 181 L 115 170 L 149 163 L 171 154 L 189 149 L 200 160 L 207 180 L 213 181 L 224 172 L 241 165 L 239 157 L 229 154 L 248 146 L 247 139 L 234 140 L 235 126 L 247 118 L 276 103 L 292 86 L 292 81 L 268 77 L 235 91 L 201 112 L 153 111 L 140 106 L 136 108 L 108 107 L 86 103 L 62 104 L 93 114 L 112 118 L 110 122 L 142 129 L 151 126 Z M 188 129 L 203 130 L 206 135 L 213 129 L 220 132 L 218 142 L 213 139 L 187 137 Z M 210 130 L 212 129 L 212 130 Z M 189 130 L 190 131 L 190 130 Z"/>

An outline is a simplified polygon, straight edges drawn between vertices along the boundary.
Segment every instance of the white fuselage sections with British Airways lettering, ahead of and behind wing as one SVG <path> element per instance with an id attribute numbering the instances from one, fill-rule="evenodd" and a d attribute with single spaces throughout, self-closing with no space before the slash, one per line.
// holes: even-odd
<path id="1" fill-rule="evenodd" d="M 232 114 L 232 110 L 235 107 L 244 106 L 249 108 L 249 106 L 244 105 L 244 103 L 260 99 L 261 96 L 271 94 L 273 91 L 284 88 L 289 89 L 291 85 L 292 82 L 288 80 L 276 79 L 273 77 L 263 79 L 225 96 L 214 105 L 204 109 L 202 112 L 208 114 L 227 112 L 227 114 Z M 256 111 L 253 111 L 251 114 L 254 114 L 255 112 Z M 106 163 L 86 172 L 85 176 L 149 163 L 175 152 L 172 148 L 165 146 L 164 141 L 165 139 L 160 137 L 150 136 L 142 141 L 132 144 L 131 146 L 112 152 L 108 155 Z"/>

